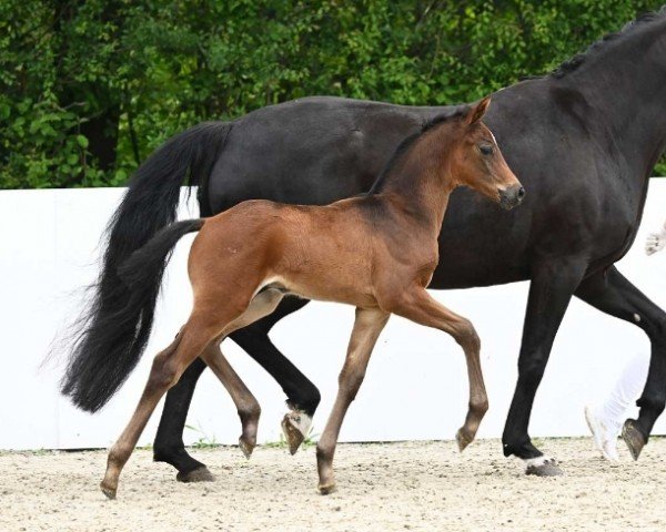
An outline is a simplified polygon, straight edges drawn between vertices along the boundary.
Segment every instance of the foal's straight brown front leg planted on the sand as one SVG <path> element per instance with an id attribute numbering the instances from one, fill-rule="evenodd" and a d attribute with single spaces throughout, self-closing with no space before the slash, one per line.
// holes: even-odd
<path id="1" fill-rule="evenodd" d="M 319 490 L 325 495 L 335 491 L 333 456 L 344 416 L 356 397 L 365 377 L 372 349 L 389 320 L 390 314 L 379 308 L 356 308 L 356 319 L 350 338 L 344 366 L 340 372 L 335 405 L 316 444 Z"/>

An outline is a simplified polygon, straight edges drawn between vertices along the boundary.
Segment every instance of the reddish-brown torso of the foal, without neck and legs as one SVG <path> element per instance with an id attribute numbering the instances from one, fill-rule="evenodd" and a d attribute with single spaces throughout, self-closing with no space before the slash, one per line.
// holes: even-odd
<path id="1" fill-rule="evenodd" d="M 385 229 L 398 225 L 384 202 L 370 196 L 324 206 L 243 202 L 209 218 L 195 238 L 195 297 L 239 289 L 252 297 L 273 286 L 309 299 L 373 306 L 377 275 L 395 253 L 392 244 L 405 242 Z"/>

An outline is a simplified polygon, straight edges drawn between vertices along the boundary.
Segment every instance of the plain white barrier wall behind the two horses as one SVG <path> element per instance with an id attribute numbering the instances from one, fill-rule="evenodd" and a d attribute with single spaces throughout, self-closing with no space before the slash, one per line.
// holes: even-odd
<path id="1" fill-rule="evenodd" d="M 0 192 L 0 449 L 105 447 L 120 433 L 145 382 L 152 356 L 170 342 L 189 314 L 185 259 L 193 235 L 183 238 L 168 270 L 157 326 L 147 355 L 102 412 L 72 408 L 57 391 L 60 369 L 39 369 L 49 344 L 81 308 L 80 287 L 97 273 L 98 241 L 123 190 Z M 643 225 L 619 269 L 655 303 L 666 307 L 666 252 L 646 257 L 647 233 L 666 217 L 666 180 L 653 180 Z M 181 217 L 196 214 L 194 201 Z M 434 295 L 476 325 L 491 410 L 481 437 L 500 437 L 516 379 L 527 284 L 436 291 Z M 281 321 L 271 336 L 322 391 L 314 419 L 320 432 L 336 392 L 353 309 L 313 303 Z M 536 397 L 532 436 L 577 436 L 587 429 L 583 406 L 602 398 L 636 352 L 649 344 L 630 324 L 574 300 L 559 329 Z M 231 340 L 223 350 L 262 405 L 261 441 L 280 438 L 285 411 L 280 387 Z M 466 411 L 464 357 L 446 335 L 391 318 L 345 420 L 344 441 L 450 439 Z M 159 412 L 141 443 L 154 437 Z M 240 423 L 222 386 L 210 371 L 200 380 L 185 441 L 235 443 Z M 666 433 L 666 417 L 656 427 Z"/>

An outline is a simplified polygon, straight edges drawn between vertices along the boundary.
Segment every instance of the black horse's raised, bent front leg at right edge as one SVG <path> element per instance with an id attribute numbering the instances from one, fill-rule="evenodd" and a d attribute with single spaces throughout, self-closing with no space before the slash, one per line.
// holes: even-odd
<path id="1" fill-rule="evenodd" d="M 637 460 L 666 405 L 666 313 L 615 266 L 585 279 L 576 296 L 603 313 L 640 327 L 652 344 L 647 381 L 640 399 L 636 401 L 640 407 L 638 419 L 627 419 L 622 433 L 632 457 Z"/>

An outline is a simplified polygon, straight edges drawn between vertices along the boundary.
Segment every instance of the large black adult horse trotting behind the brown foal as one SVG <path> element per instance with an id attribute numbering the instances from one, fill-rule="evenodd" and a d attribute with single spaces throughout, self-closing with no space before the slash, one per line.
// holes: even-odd
<path id="1" fill-rule="evenodd" d="M 637 420 L 625 434 L 637 457 L 666 403 L 666 314 L 614 266 L 632 245 L 648 176 L 666 145 L 666 10 L 638 18 L 553 74 L 493 96 L 485 122 L 528 191 L 521 208 L 500 207 L 456 191 L 440 238 L 442 260 L 430 288 L 465 288 L 529 279 L 518 380 L 503 433 L 506 456 L 527 472 L 557 468 L 532 443 L 534 397 L 573 295 L 642 328 L 652 362 Z M 107 366 L 135 362 L 150 335 L 154 298 L 128 314 L 117 268 L 174 219 L 180 186 L 199 184 L 203 216 L 250 198 L 326 204 L 367 191 L 395 146 L 424 121 L 456 108 L 408 108 L 310 98 L 265 108 L 229 123 L 208 123 L 174 136 L 137 172 L 109 226 L 103 269 L 63 382 L 79 407 L 103 406 L 124 377 L 101 379 Z M 285 298 L 272 316 L 231 338 L 282 386 L 295 412 L 312 416 L 316 388 L 270 341 L 268 332 L 305 301 Z M 111 337 L 109 325 L 125 324 Z M 100 357 L 100 374 L 77 356 Z M 195 360 L 167 397 L 154 458 L 180 480 L 210 478 L 182 442 L 196 379 Z M 112 372 L 111 372 L 112 374 Z"/>

